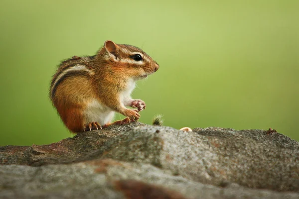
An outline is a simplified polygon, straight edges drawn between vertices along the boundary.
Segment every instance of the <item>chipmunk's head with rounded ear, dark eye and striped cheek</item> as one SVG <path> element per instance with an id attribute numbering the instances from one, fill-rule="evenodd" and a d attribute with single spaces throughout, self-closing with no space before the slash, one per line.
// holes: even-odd
<path id="1" fill-rule="evenodd" d="M 113 70 L 135 80 L 146 78 L 159 69 L 159 65 L 147 53 L 135 46 L 107 40 L 101 51 Z"/>

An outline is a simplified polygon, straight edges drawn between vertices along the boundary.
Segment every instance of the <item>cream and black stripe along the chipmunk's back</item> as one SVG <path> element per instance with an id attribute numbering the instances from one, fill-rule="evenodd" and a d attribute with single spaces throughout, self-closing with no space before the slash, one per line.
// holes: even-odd
<path id="1" fill-rule="evenodd" d="M 67 68 L 66 70 L 63 70 L 63 72 L 57 76 L 54 83 L 52 84 L 51 99 L 54 98 L 58 85 L 66 78 L 78 76 L 78 75 L 88 76 L 89 74 L 90 74 L 90 70 L 88 70 L 85 66 L 82 65 L 75 65 L 70 68 Z"/>

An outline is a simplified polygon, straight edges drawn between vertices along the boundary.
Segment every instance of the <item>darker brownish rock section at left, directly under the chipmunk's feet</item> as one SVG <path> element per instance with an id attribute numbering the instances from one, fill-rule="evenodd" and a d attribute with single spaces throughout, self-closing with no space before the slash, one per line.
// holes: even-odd
<path id="1" fill-rule="evenodd" d="M 107 140 L 120 133 L 140 125 L 145 124 L 134 122 L 100 131 L 78 133 L 73 138 L 67 138 L 49 145 L 3 146 L 0 147 L 0 164 L 41 166 L 70 162 L 84 156 L 87 152 L 100 148 Z"/>

